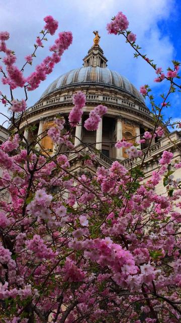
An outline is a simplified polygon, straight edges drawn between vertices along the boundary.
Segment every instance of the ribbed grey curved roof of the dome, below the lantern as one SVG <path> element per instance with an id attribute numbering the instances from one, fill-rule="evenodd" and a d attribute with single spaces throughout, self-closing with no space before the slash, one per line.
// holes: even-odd
<path id="1" fill-rule="evenodd" d="M 41 96 L 41 99 L 50 93 L 67 86 L 78 84 L 100 84 L 108 87 L 114 87 L 117 90 L 131 94 L 136 99 L 144 103 L 142 95 L 129 82 L 129 80 L 107 67 L 87 66 L 71 69 L 54 80 Z"/>

